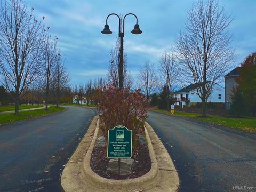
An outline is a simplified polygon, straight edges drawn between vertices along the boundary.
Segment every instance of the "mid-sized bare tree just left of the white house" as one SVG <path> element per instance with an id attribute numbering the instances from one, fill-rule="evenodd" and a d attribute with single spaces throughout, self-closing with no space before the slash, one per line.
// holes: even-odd
<path id="1" fill-rule="evenodd" d="M 162 87 L 167 89 L 167 110 L 170 109 L 170 95 L 177 84 L 178 70 L 172 53 L 163 53 L 159 61 L 159 81 Z"/>

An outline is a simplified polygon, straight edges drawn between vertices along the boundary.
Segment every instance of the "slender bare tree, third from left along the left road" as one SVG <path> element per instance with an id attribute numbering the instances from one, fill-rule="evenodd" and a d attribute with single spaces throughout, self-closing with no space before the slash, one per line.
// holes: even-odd
<path id="1" fill-rule="evenodd" d="M 58 53 L 57 61 L 53 68 L 53 74 L 53 84 L 56 93 L 56 106 L 59 107 L 62 89 L 70 82 L 70 78 L 67 70 L 64 67 L 63 59 L 60 53 Z"/>

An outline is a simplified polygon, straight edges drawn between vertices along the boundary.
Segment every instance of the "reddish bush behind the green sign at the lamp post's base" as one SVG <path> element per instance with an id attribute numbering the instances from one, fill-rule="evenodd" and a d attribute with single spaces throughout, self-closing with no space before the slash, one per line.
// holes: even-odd
<path id="1" fill-rule="evenodd" d="M 144 131 L 148 104 L 140 90 L 129 92 L 119 90 L 114 84 L 98 89 L 94 95 L 99 103 L 98 110 L 102 114 L 103 131 L 107 136 L 108 130 L 117 125 L 126 126 L 133 131 L 133 140 L 138 132 Z"/>

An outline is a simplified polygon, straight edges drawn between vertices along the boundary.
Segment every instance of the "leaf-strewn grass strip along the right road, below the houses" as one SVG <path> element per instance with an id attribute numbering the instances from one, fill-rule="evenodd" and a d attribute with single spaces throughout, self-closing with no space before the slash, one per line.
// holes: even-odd
<path id="1" fill-rule="evenodd" d="M 159 113 L 172 115 L 171 111 L 161 110 L 161 109 L 153 109 L 153 111 L 157 111 Z M 227 127 L 231 127 L 238 130 L 254 132 L 256 133 L 256 118 L 255 117 L 244 117 L 244 118 L 233 118 L 233 117 L 219 117 L 211 115 L 207 118 L 200 118 L 201 114 L 197 113 L 186 113 L 182 111 L 175 111 L 175 116 L 182 116 L 197 119 L 203 122 L 223 125 Z"/>

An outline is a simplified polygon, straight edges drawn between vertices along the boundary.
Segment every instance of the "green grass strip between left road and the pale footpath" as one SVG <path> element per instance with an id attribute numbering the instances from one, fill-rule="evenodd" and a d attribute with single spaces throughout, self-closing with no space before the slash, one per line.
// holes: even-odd
<path id="1" fill-rule="evenodd" d="M 3 123 L 11 123 L 15 121 L 21 121 L 25 119 L 30 119 L 38 116 L 44 116 L 47 114 L 51 114 L 57 111 L 61 111 L 65 109 L 64 107 L 55 107 L 55 106 L 49 106 L 49 110 L 45 111 L 44 109 L 36 109 L 31 111 L 21 111 L 19 115 L 14 114 L 2 114 L 0 115 L 0 124 Z"/>

